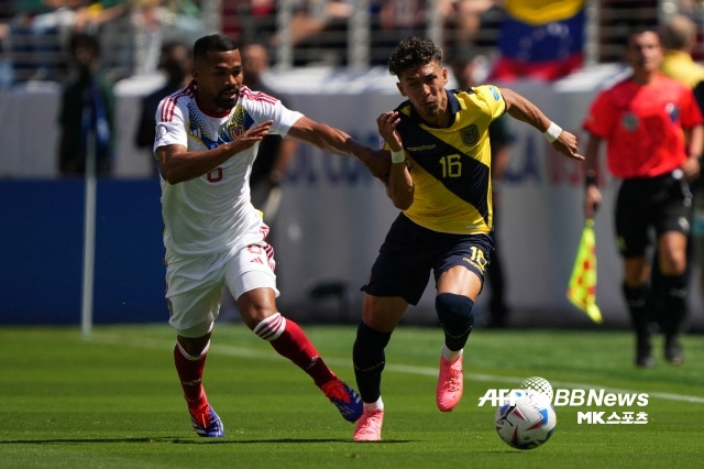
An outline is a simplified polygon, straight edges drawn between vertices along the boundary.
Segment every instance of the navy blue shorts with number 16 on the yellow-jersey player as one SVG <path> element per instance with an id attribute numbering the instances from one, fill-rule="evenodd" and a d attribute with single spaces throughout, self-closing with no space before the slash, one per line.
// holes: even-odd
<path id="1" fill-rule="evenodd" d="M 429 230 L 404 214 L 392 223 L 362 291 L 373 296 L 400 296 L 417 305 L 430 271 L 436 282 L 442 272 L 464 265 L 484 283 L 494 242 L 488 234 L 452 234 Z"/>

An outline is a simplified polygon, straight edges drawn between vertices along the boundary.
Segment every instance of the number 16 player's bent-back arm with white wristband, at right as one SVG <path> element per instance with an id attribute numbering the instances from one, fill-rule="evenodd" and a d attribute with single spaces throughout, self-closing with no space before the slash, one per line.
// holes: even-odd
<path id="1" fill-rule="evenodd" d="M 506 112 L 514 119 L 529 123 L 542 132 L 558 152 L 563 155 L 583 161 L 579 153 L 576 137 L 562 130 L 552 122 L 536 105 L 509 88 L 502 88 L 506 101 Z"/>

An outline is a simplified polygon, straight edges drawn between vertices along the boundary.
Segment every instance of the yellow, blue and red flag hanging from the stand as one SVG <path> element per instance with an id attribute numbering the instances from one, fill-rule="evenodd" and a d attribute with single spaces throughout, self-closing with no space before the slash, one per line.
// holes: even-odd
<path id="1" fill-rule="evenodd" d="M 505 0 L 490 80 L 554 80 L 582 67 L 586 0 Z"/>

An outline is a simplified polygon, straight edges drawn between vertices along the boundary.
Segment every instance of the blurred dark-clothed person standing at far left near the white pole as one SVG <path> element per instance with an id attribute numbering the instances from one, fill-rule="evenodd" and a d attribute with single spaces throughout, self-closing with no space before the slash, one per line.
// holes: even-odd
<path id="1" fill-rule="evenodd" d="M 96 36 L 76 33 L 68 50 L 77 74 L 64 85 L 59 102 L 59 173 L 84 174 L 86 159 L 92 155 L 96 173 L 106 176 L 114 152 L 113 84 L 99 68 L 100 44 Z"/>

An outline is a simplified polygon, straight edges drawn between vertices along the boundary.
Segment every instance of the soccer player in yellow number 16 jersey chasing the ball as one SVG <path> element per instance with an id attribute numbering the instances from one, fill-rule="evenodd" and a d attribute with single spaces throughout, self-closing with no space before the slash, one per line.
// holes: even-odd
<path id="1" fill-rule="evenodd" d="M 442 52 L 431 41 L 408 37 L 388 61 L 407 98 L 377 119 L 392 153 L 386 190 L 402 212 L 392 225 L 364 291 L 353 348 L 364 413 L 354 439 L 382 438 L 381 381 L 384 348 L 409 304 L 420 299 L 430 271 L 436 310 L 444 332 L 436 393 L 450 412 L 462 396 L 462 350 L 472 330 L 472 308 L 482 291 L 493 247 L 488 124 L 507 112 L 543 132 L 575 160 L 576 138 L 551 122 L 526 98 L 491 85 L 450 90 Z"/>

